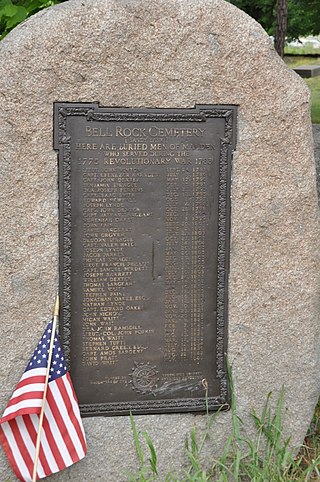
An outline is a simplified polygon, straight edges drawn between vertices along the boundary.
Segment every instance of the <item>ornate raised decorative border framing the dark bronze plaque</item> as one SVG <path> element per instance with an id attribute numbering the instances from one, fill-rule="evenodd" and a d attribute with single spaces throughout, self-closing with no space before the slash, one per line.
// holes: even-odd
<path id="1" fill-rule="evenodd" d="M 220 141 L 219 195 L 218 195 L 218 243 L 217 243 L 217 318 L 216 318 L 216 379 L 219 395 L 209 397 L 209 410 L 230 408 L 230 388 L 227 371 L 227 320 L 228 276 L 230 245 L 230 190 L 232 154 L 236 146 L 236 122 L 238 107 L 235 105 L 196 104 L 191 109 L 139 109 L 102 107 L 98 102 L 54 103 L 54 149 L 59 151 L 59 240 L 61 298 L 60 333 L 67 366 L 71 357 L 71 137 L 67 132 L 67 118 L 85 116 L 90 121 L 117 122 L 206 122 L 208 118 L 225 120 L 224 137 Z M 62 189 L 61 189 L 62 186 Z M 230 223 L 228 223 L 228 219 Z M 205 391 L 204 391 L 205 394 Z M 176 398 L 135 402 L 106 402 L 81 404 L 83 416 L 151 414 L 170 412 L 205 411 L 205 396 L 201 398 Z"/>

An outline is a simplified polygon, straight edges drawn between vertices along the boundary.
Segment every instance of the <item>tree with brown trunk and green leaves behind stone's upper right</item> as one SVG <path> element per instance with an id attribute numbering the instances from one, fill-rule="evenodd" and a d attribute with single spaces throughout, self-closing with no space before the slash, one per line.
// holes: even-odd
<path id="1" fill-rule="evenodd" d="M 269 35 L 275 37 L 280 55 L 283 52 L 281 43 L 285 38 L 293 40 L 320 33 L 320 0 L 229 1 L 257 20 Z"/>

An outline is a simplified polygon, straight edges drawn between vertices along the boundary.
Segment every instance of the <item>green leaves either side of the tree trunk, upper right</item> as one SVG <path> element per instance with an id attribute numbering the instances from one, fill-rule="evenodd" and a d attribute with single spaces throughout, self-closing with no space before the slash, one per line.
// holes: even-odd
<path id="1" fill-rule="evenodd" d="M 257 20 L 269 35 L 275 35 L 277 0 L 229 0 L 229 2 Z M 289 0 L 288 39 L 298 39 L 319 33 L 319 0 Z"/>

